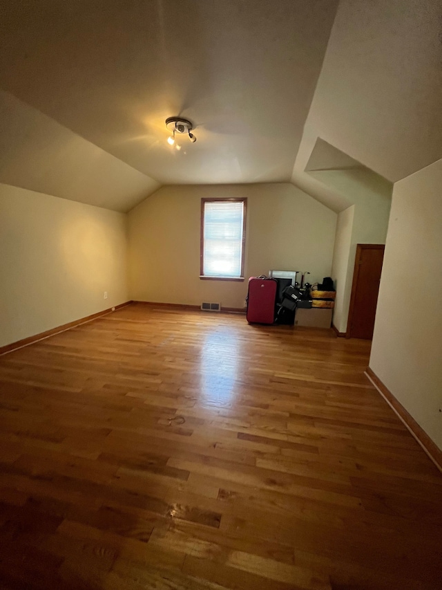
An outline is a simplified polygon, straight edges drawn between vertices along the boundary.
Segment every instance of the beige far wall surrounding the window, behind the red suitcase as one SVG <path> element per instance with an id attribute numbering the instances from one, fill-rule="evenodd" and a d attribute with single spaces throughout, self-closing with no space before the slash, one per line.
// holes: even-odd
<path id="1" fill-rule="evenodd" d="M 330 274 L 336 213 L 289 183 L 166 186 L 128 214 L 131 299 L 242 308 L 247 280 L 202 281 L 202 197 L 247 197 L 246 279 L 278 270 Z"/>

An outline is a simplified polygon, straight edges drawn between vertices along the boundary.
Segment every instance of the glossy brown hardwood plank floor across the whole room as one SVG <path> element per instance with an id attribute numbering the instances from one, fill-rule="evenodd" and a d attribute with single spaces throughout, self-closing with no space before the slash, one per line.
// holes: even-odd
<path id="1" fill-rule="evenodd" d="M 133 305 L 0 357 L 0 589 L 435 590 L 369 342 Z"/>

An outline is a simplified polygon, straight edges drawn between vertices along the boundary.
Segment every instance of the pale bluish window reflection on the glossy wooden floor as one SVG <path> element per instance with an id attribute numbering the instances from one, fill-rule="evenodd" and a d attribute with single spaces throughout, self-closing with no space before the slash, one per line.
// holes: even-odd
<path id="1" fill-rule="evenodd" d="M 225 407 L 234 401 L 238 351 L 238 334 L 228 327 L 218 326 L 205 336 L 200 356 L 202 404 Z"/>

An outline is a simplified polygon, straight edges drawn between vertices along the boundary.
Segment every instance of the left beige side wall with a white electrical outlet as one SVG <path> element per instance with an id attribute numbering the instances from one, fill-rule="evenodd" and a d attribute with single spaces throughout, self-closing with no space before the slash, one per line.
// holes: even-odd
<path id="1" fill-rule="evenodd" d="M 0 252 L 0 346 L 128 299 L 122 213 L 0 184 Z"/>

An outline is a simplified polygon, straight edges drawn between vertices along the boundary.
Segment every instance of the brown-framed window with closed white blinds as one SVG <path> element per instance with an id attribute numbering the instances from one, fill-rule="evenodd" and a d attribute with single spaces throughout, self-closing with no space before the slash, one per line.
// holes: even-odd
<path id="1" fill-rule="evenodd" d="M 201 199 L 202 279 L 244 280 L 247 199 Z"/>

